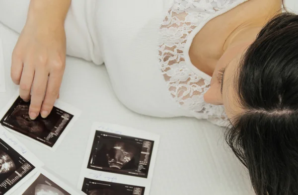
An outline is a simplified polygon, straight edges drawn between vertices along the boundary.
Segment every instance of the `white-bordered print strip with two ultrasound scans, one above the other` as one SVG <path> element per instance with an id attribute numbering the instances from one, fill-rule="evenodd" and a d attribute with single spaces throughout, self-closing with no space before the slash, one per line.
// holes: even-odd
<path id="1" fill-rule="evenodd" d="M 158 142 L 155 134 L 94 123 L 78 188 L 87 195 L 149 195 Z"/>

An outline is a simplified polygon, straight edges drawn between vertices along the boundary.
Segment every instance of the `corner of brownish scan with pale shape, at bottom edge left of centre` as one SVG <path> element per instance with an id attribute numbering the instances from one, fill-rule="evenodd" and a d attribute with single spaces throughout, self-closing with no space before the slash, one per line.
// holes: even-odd
<path id="1" fill-rule="evenodd" d="M 40 174 L 22 195 L 71 195 L 56 183 Z"/>

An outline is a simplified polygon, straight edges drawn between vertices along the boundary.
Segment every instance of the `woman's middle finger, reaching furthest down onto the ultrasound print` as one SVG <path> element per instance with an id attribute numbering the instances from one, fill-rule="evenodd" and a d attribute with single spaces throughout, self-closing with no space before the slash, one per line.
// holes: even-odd
<path id="1" fill-rule="evenodd" d="M 40 108 L 45 97 L 48 81 L 48 72 L 45 68 L 36 70 L 33 80 L 32 96 L 29 108 L 30 119 L 34 120 L 38 117 Z"/>

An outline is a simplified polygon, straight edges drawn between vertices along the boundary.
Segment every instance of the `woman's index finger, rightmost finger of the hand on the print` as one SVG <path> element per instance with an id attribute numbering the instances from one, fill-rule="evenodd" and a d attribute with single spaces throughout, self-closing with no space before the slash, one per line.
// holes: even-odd
<path id="1" fill-rule="evenodd" d="M 41 117 L 46 118 L 52 111 L 57 97 L 59 96 L 59 89 L 62 82 L 63 73 L 50 73 L 45 99 L 41 107 Z"/>

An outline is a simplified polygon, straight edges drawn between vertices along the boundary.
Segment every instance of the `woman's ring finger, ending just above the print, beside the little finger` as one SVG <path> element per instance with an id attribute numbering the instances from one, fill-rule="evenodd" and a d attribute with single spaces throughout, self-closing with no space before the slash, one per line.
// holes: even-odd
<path id="1" fill-rule="evenodd" d="M 30 92 L 34 78 L 34 67 L 32 65 L 24 65 L 20 80 L 20 97 L 24 101 L 30 100 Z"/>

